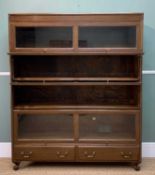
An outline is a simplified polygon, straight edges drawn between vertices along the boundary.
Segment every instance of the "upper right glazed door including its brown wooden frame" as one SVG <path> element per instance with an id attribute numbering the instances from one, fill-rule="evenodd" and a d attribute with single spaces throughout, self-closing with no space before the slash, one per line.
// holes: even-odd
<path id="1" fill-rule="evenodd" d="M 80 51 L 125 53 L 140 51 L 140 26 L 136 23 L 81 24 L 78 47 Z"/>

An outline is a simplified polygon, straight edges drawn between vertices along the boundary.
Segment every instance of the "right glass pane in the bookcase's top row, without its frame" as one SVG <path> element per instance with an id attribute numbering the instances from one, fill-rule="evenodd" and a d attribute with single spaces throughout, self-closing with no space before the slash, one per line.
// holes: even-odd
<path id="1" fill-rule="evenodd" d="M 79 27 L 79 47 L 136 47 L 136 26 Z"/>

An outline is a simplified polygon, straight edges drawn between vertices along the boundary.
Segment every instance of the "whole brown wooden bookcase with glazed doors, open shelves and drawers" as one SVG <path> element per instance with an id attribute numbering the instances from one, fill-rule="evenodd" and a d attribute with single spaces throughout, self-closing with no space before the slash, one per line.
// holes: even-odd
<path id="1" fill-rule="evenodd" d="M 143 14 L 9 15 L 12 161 L 141 162 Z"/>

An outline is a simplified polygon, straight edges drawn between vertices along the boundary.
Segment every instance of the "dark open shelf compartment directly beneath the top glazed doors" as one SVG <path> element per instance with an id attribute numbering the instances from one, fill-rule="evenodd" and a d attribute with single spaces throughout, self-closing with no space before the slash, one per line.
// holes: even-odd
<path id="1" fill-rule="evenodd" d="M 13 56 L 14 76 L 21 78 L 136 78 L 139 61 L 135 56 Z"/>

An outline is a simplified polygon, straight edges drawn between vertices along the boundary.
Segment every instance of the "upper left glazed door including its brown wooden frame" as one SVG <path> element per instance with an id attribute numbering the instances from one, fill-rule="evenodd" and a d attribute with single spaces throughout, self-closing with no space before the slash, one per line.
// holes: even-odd
<path id="1" fill-rule="evenodd" d="M 11 25 L 11 51 L 67 52 L 73 50 L 72 24 Z"/>

